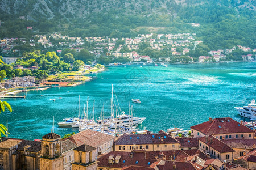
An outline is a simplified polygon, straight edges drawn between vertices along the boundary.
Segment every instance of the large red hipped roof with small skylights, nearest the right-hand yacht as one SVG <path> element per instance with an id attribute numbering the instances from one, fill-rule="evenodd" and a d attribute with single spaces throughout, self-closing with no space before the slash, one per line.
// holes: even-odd
<path id="1" fill-rule="evenodd" d="M 209 118 L 210 119 L 210 118 Z M 191 126 L 191 129 L 207 134 L 253 133 L 254 131 L 230 117 L 214 118 L 212 121 Z"/>

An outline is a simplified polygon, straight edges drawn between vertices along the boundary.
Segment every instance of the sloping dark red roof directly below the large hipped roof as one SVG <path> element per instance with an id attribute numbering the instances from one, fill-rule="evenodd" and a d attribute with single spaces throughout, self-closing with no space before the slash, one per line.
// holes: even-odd
<path id="1" fill-rule="evenodd" d="M 208 142 L 207 142 L 207 138 L 208 138 Z M 220 153 L 234 152 L 234 150 L 231 147 L 229 147 L 228 145 L 226 145 L 226 143 L 220 141 L 220 139 L 217 139 L 216 137 L 213 137 L 212 135 L 209 135 L 208 137 L 207 136 L 201 137 L 201 138 L 199 138 L 199 143 L 200 143 L 200 141 L 206 143 L 209 147 L 212 147 L 214 150 L 216 150 Z"/>

